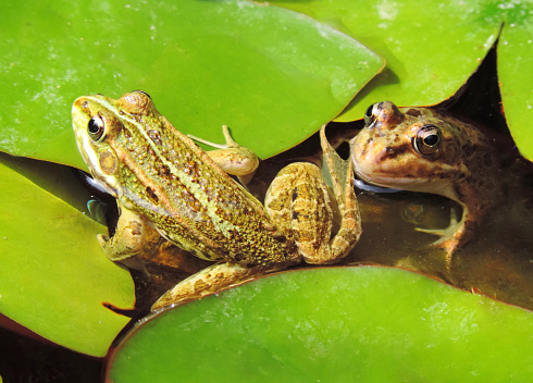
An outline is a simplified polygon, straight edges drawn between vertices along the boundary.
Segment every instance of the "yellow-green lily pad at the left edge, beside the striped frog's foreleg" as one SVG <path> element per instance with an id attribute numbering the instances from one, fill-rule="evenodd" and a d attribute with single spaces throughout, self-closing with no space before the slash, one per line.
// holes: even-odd
<path id="1" fill-rule="evenodd" d="M 129 273 L 110 262 L 97 233 L 106 227 L 0 163 L 0 313 L 73 350 L 102 357 L 129 318 Z"/>

